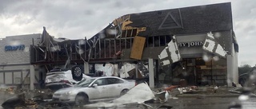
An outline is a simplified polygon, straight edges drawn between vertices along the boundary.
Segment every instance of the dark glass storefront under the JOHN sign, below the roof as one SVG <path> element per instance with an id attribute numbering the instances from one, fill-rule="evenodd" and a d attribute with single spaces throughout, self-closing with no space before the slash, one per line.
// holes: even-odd
<path id="1" fill-rule="evenodd" d="M 222 36 L 222 33 L 225 32 L 215 32 L 214 36 L 232 37 L 232 34 Z M 226 85 L 230 82 L 238 82 L 238 75 L 233 77 L 238 74 L 238 66 L 235 63 L 238 60 L 237 54 L 234 52 L 222 57 L 206 52 L 202 47 L 206 36 L 207 33 L 176 37 L 182 60 L 171 67 L 173 84 L 179 84 L 180 80 L 185 80 L 189 85 Z M 229 48 L 229 46 L 226 43 L 223 48 Z M 234 48 L 231 51 L 234 51 Z M 232 65 L 228 66 L 231 63 Z M 231 72 L 232 70 L 235 73 Z"/>

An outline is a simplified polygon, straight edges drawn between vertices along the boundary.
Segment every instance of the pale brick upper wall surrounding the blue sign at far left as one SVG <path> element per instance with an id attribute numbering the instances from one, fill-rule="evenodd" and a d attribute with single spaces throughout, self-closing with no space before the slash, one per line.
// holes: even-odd
<path id="1" fill-rule="evenodd" d="M 0 64 L 28 64 L 30 63 L 30 45 L 38 45 L 42 34 L 18 35 L 0 40 Z M 6 45 L 25 45 L 23 50 L 6 51 Z"/>

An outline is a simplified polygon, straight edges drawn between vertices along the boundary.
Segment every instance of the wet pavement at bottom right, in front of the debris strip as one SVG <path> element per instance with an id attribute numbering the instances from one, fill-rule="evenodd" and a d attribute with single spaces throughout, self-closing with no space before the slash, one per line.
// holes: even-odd
<path id="1" fill-rule="evenodd" d="M 196 97 L 182 97 L 178 99 L 169 99 L 166 103 L 146 103 L 152 107 L 159 107 L 160 105 L 171 106 L 171 109 L 228 109 L 238 98 L 233 97 L 206 97 L 205 99 L 198 99 Z M 242 109 L 254 109 L 256 107 L 256 98 L 250 98 L 242 104 Z M 135 109 L 142 108 L 138 105 L 120 106 L 118 109 Z M 159 108 L 166 109 L 166 108 Z"/>

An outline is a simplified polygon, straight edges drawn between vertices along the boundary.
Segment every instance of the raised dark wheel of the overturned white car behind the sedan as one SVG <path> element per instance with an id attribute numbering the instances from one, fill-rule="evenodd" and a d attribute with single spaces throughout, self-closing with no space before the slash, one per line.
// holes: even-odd
<path id="1" fill-rule="evenodd" d="M 82 80 L 83 69 L 81 66 L 75 65 L 71 68 L 71 72 L 74 80 Z"/>

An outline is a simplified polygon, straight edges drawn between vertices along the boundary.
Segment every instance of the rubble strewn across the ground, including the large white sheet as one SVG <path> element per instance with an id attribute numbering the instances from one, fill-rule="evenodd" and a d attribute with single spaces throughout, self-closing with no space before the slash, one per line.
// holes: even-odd
<path id="1" fill-rule="evenodd" d="M 5 91 L 8 94 L 14 93 L 14 97 L 7 99 L 5 103 L 2 103 L 4 108 L 15 108 L 15 109 L 25 109 L 25 108 L 58 108 L 71 106 L 65 102 L 52 101 L 52 91 L 51 90 L 26 90 L 26 89 L 16 89 L 16 88 L 1 88 L 0 91 Z M 31 95 L 32 94 L 32 95 Z M 162 88 L 150 89 L 148 84 L 142 83 L 138 84 L 136 87 L 132 88 L 125 95 L 122 95 L 118 99 L 114 99 L 106 103 L 92 103 L 85 107 L 118 107 L 127 104 L 138 104 L 143 107 L 153 107 L 146 103 L 156 103 L 161 104 L 161 108 L 164 106 L 168 99 L 177 99 L 174 96 L 180 97 L 180 95 L 194 95 L 197 99 L 205 99 L 207 95 L 240 95 L 242 94 L 242 88 L 228 88 L 228 87 L 216 87 L 216 86 L 186 86 L 181 87 L 180 85 L 170 85 Z M 171 108 L 168 106 L 167 108 Z"/>

